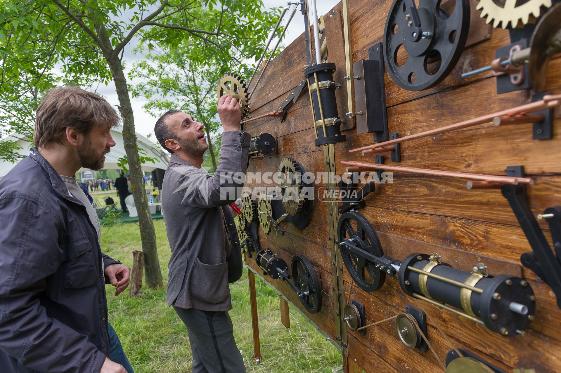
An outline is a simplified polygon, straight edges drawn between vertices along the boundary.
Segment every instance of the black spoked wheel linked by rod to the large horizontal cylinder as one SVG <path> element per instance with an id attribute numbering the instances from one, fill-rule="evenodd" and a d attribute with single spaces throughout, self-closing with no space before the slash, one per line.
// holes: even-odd
<path id="1" fill-rule="evenodd" d="M 356 227 L 355 227 L 356 225 Z M 348 240 L 353 246 L 374 256 L 383 256 L 378 234 L 370 222 L 356 211 L 344 213 L 337 226 L 339 233 L 339 250 L 348 273 L 358 287 L 366 292 L 374 292 L 384 285 L 385 272 L 376 268 L 376 264 L 365 257 L 355 254 L 343 242 Z"/>

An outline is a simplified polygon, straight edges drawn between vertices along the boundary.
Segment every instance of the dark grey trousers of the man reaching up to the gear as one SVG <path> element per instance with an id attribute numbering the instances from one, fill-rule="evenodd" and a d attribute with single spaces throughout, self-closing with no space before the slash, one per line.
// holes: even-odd
<path id="1" fill-rule="evenodd" d="M 245 373 L 228 312 L 173 306 L 187 326 L 193 354 L 193 373 Z"/>

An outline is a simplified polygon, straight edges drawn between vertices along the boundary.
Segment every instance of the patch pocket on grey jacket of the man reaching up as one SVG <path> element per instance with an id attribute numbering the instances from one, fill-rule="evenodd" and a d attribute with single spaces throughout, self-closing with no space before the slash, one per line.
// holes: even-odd
<path id="1" fill-rule="evenodd" d="M 218 304 L 228 297 L 227 263 L 204 264 L 195 258 L 189 291 L 191 297 L 205 303 Z"/>

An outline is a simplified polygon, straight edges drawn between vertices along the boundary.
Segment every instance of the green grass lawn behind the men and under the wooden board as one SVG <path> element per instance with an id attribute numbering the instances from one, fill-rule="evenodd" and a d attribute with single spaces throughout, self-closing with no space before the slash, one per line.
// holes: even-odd
<path id="1" fill-rule="evenodd" d="M 165 224 L 155 220 L 158 255 L 164 287 L 171 254 Z M 138 226 L 116 224 L 102 228 L 105 254 L 131 266 L 133 250 L 141 250 Z M 321 372 L 342 368 L 341 353 L 291 307 L 291 329 L 280 323 L 279 297 L 258 277 L 255 278 L 261 366 L 253 360 L 253 337 L 247 270 L 231 285 L 234 337 L 242 350 L 248 372 Z M 128 298 L 128 289 L 115 297 L 107 286 L 109 321 L 117 331 L 123 348 L 136 373 L 183 373 L 191 371 L 191 348 L 187 330 L 165 302 L 165 289 L 142 288 L 142 296 Z"/>

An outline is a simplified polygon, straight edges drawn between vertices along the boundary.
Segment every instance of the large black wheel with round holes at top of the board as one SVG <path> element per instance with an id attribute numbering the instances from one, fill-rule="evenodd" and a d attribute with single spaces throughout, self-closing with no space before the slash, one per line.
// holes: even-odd
<path id="1" fill-rule="evenodd" d="M 420 27 L 412 25 L 404 0 L 394 0 L 384 29 L 384 59 L 401 88 L 428 89 L 448 76 L 466 45 L 469 0 L 419 0 Z M 402 50 L 403 49 L 403 50 Z"/>

